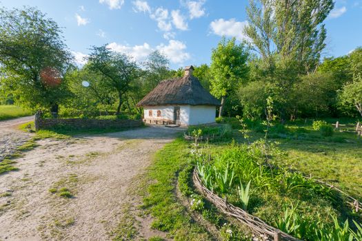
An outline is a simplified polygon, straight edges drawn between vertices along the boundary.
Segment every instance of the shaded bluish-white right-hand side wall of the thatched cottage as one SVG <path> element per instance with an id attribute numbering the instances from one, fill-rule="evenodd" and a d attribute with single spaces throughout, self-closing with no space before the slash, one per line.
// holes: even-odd
<path id="1" fill-rule="evenodd" d="M 200 125 L 215 122 L 217 109 L 210 105 L 191 105 L 188 125 Z"/>

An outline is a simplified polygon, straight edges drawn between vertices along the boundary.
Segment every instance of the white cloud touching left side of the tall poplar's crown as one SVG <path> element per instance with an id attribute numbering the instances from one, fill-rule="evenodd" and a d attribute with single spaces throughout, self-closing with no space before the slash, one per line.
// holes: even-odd
<path id="1" fill-rule="evenodd" d="M 238 40 L 248 39 L 244 34 L 244 28 L 248 25 L 248 21 L 238 22 L 235 19 L 224 20 L 217 19 L 210 23 L 212 33 L 219 36 L 232 36 Z"/>

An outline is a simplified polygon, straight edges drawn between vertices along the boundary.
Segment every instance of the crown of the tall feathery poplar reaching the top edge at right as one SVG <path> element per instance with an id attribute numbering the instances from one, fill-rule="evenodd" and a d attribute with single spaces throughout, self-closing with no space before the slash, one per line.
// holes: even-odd
<path id="1" fill-rule="evenodd" d="M 333 8 L 332 0 L 250 0 L 245 34 L 270 70 L 279 61 L 314 72 L 325 48 L 323 21 Z"/>

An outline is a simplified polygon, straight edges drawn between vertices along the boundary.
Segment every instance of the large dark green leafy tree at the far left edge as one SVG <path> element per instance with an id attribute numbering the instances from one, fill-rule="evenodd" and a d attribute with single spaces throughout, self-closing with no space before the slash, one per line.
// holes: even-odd
<path id="1" fill-rule="evenodd" d="M 18 103 L 57 112 L 69 93 L 63 76 L 70 60 L 52 19 L 35 8 L 0 8 L 0 85 Z"/>

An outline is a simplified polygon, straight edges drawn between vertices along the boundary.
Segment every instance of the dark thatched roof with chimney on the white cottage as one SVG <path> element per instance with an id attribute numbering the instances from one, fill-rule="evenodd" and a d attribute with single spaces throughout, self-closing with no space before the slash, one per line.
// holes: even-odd
<path id="1" fill-rule="evenodd" d="M 137 106 L 154 105 L 220 105 L 220 101 L 205 90 L 192 76 L 192 66 L 185 68 L 185 76 L 159 83 Z"/>

